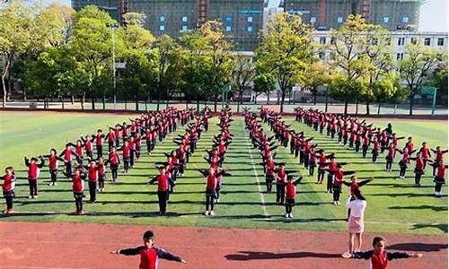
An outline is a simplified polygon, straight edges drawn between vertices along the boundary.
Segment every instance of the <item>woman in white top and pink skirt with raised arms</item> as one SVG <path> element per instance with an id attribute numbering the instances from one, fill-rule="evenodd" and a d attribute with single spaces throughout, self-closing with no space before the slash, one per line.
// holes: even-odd
<path id="1" fill-rule="evenodd" d="M 362 233 L 364 232 L 364 216 L 366 208 L 365 197 L 360 193 L 360 190 L 354 190 L 352 194 L 355 200 L 351 201 L 351 195 L 348 196 L 346 200 L 346 207 L 351 210 L 348 220 L 348 231 L 349 231 L 349 253 L 353 251 L 360 251 L 362 247 Z M 357 247 L 354 247 L 354 238 L 357 238 Z"/>

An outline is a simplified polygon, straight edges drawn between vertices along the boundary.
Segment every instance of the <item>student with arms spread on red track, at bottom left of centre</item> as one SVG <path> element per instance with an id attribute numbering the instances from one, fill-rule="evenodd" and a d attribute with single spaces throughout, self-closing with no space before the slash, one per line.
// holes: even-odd
<path id="1" fill-rule="evenodd" d="M 182 264 L 187 262 L 181 259 L 179 256 L 175 256 L 172 253 L 163 250 L 163 248 L 154 246 L 154 232 L 153 230 L 147 230 L 144 233 L 144 246 L 135 248 L 118 249 L 110 251 L 111 254 L 123 254 L 126 256 L 140 255 L 140 269 L 154 269 L 159 265 L 159 258 L 169 261 L 176 261 Z"/>

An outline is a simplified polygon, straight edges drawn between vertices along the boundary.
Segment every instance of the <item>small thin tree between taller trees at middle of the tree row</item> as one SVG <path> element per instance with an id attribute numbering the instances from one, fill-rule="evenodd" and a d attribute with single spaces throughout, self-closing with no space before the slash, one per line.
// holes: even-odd
<path id="1" fill-rule="evenodd" d="M 247 89 L 254 79 L 254 65 L 251 58 L 247 56 L 236 56 L 233 68 L 233 91 L 237 92 L 239 102 L 237 103 L 237 112 L 240 111 L 242 104 L 243 91 Z"/>

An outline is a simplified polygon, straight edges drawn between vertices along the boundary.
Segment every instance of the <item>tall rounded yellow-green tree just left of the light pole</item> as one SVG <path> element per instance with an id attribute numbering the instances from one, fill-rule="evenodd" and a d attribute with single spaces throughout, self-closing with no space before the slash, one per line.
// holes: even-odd
<path id="1" fill-rule="evenodd" d="M 110 15 L 94 5 L 87 5 L 75 15 L 72 48 L 84 73 L 88 75 L 88 94 L 92 98 L 92 109 L 96 98 L 103 93 L 102 85 L 110 82 L 111 33 L 107 24 L 113 23 Z M 116 39 L 116 51 L 119 54 L 120 39 Z M 103 98 L 104 100 L 104 98 Z"/>

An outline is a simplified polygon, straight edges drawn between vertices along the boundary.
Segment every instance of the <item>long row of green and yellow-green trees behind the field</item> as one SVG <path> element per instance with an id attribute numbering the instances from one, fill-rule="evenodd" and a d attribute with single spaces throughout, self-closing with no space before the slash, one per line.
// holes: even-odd
<path id="1" fill-rule="evenodd" d="M 400 61 L 392 54 L 392 38 L 382 27 L 350 15 L 331 30 L 329 44 L 313 41 L 313 29 L 298 15 L 273 16 L 253 58 L 233 53 L 223 25 L 209 21 L 178 39 L 154 37 L 141 25 L 145 14 L 125 14 L 119 26 L 109 13 L 88 5 L 75 12 L 63 4 L 0 5 L 0 55 L 3 105 L 10 98 L 11 77 L 21 79 L 24 97 L 72 97 L 81 101 L 213 100 L 215 109 L 225 87 L 242 101 L 248 88 L 259 95 L 279 89 L 280 109 L 295 85 L 348 103 L 401 103 L 424 85 L 447 92 L 444 52 L 416 44 Z M 322 59 L 327 52 L 325 59 Z M 114 73 L 113 61 L 126 63 Z M 124 67 L 124 68 L 122 68 Z M 435 74 L 435 75 L 434 75 Z M 445 87 L 444 87 L 445 86 Z M 239 104 L 240 104 L 239 102 Z M 45 107 L 45 105 L 44 105 Z M 239 109 L 240 107 L 238 107 Z M 367 110 L 369 111 L 369 110 Z M 369 113 L 369 112 L 368 112 Z"/>

